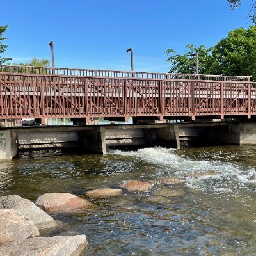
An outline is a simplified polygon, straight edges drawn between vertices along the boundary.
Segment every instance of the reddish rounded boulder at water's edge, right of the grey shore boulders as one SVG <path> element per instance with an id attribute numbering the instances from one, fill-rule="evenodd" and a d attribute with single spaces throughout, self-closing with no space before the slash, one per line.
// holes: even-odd
<path id="1" fill-rule="evenodd" d="M 36 200 L 36 205 L 49 212 L 76 213 L 92 208 L 94 204 L 70 193 L 45 193 Z"/>

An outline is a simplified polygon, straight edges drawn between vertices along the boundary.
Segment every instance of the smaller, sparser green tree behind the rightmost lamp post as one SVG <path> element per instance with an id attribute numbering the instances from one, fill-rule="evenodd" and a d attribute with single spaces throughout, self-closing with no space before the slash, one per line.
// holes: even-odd
<path id="1" fill-rule="evenodd" d="M 170 73 L 185 73 L 195 74 L 196 73 L 196 57 L 191 56 L 198 52 L 198 73 L 207 74 L 209 73 L 209 65 L 211 63 L 211 50 L 212 48 L 206 48 L 203 45 L 196 47 L 193 44 L 186 45 L 188 50 L 184 51 L 183 55 L 177 54 L 173 49 L 166 51 L 167 55 L 170 56 L 166 62 L 171 63 Z"/>

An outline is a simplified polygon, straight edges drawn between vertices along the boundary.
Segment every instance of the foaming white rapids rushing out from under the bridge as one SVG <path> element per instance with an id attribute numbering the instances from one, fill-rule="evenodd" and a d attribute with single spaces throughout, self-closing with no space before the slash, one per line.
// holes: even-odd
<path id="1" fill-rule="evenodd" d="M 221 155 L 223 152 L 219 152 Z M 189 188 L 211 190 L 216 193 L 232 192 L 237 188 L 255 191 L 255 168 L 243 168 L 230 161 L 195 160 L 177 154 L 177 150 L 162 147 L 144 148 L 138 151 L 110 150 L 109 154 L 134 157 L 157 166 L 158 175 L 180 177 Z M 248 186 L 249 185 L 249 186 Z"/>

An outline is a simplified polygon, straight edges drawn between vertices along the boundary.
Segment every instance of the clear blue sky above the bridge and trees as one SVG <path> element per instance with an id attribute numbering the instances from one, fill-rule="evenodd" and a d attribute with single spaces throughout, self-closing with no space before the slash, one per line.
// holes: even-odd
<path id="1" fill-rule="evenodd" d="M 0 25 L 8 25 L 4 56 L 13 62 L 51 60 L 55 67 L 168 72 L 165 51 L 189 43 L 210 47 L 244 27 L 249 0 L 230 11 L 226 0 L 2 1 Z M 3 10 L 5 10 L 3 12 Z"/>

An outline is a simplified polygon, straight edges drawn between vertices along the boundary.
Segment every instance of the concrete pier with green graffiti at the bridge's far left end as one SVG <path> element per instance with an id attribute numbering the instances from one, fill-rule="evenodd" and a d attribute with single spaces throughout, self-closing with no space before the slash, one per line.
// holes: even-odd
<path id="1" fill-rule="evenodd" d="M 12 159 L 17 155 L 17 134 L 12 130 L 0 131 L 0 160 Z"/>

